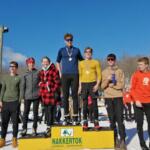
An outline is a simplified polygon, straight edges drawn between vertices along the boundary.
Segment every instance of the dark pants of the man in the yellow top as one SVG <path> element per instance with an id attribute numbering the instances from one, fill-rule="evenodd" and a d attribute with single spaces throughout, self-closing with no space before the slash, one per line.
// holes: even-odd
<path id="1" fill-rule="evenodd" d="M 83 119 L 87 120 L 87 114 L 92 115 L 94 120 L 98 120 L 97 96 L 98 92 L 93 92 L 93 87 L 96 82 L 82 83 L 82 98 L 83 98 Z M 88 96 L 92 98 L 92 104 L 88 105 Z"/>

